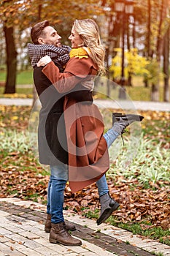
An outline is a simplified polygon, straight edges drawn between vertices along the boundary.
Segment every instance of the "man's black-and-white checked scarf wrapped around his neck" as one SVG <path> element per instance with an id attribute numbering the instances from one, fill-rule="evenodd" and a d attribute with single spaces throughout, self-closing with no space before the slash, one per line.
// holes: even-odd
<path id="1" fill-rule="evenodd" d="M 45 55 L 50 56 L 52 61 L 59 62 L 62 66 L 69 61 L 69 52 L 71 48 L 67 45 L 55 47 L 54 45 L 34 45 L 28 43 L 28 56 L 31 59 L 31 66 L 34 67 L 39 59 Z"/>

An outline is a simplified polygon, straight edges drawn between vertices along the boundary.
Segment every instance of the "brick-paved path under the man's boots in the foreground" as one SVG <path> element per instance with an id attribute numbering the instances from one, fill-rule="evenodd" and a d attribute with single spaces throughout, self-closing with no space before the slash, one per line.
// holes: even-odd
<path id="1" fill-rule="evenodd" d="M 0 256 L 150 256 L 170 255 L 170 246 L 142 239 L 132 233 L 64 211 L 66 222 L 74 222 L 72 232 L 82 246 L 50 244 L 44 231 L 45 206 L 18 198 L 0 199 Z"/>

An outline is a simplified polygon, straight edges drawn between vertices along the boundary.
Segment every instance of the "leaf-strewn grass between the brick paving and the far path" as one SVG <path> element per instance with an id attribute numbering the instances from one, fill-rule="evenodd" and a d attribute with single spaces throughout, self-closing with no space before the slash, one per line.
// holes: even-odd
<path id="1" fill-rule="evenodd" d="M 49 171 L 39 165 L 29 144 L 30 113 L 31 107 L 0 106 L 0 197 L 19 197 L 47 203 Z M 140 144 L 138 154 L 126 168 L 119 166 L 121 159 L 118 162 L 113 159 L 107 175 L 110 195 L 120 203 L 120 209 L 107 222 L 170 245 L 170 113 L 140 113 L 144 116 L 141 134 L 143 143 Z M 107 122 L 111 124 L 111 117 Z M 125 154 L 126 146 L 128 134 L 125 135 L 122 155 Z M 67 184 L 65 197 L 65 208 L 77 214 L 83 212 L 89 218 L 98 218 L 95 184 L 74 195 Z"/>

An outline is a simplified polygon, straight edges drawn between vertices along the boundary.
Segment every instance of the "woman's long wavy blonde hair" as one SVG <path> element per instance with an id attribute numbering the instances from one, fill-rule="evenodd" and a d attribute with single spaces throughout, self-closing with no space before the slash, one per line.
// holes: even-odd
<path id="1" fill-rule="evenodd" d="M 104 74 L 106 72 L 104 68 L 105 50 L 104 46 L 101 45 L 101 38 L 96 22 L 91 19 L 75 20 L 73 29 L 83 40 L 83 45 L 80 45 L 80 47 L 84 48 L 93 62 L 97 64 L 98 73 Z"/>

